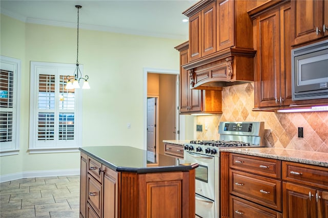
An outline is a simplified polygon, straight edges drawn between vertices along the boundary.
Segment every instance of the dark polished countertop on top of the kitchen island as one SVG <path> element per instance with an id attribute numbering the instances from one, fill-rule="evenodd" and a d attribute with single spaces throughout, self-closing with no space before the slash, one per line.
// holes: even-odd
<path id="1" fill-rule="evenodd" d="M 159 165 L 147 165 L 147 150 L 130 146 L 90 146 L 80 147 L 79 150 L 101 164 L 118 172 L 148 173 L 189 171 L 198 167 L 197 163 L 179 165 L 159 163 Z M 161 154 L 159 154 L 159 156 L 161 156 Z M 167 156 L 165 157 L 167 158 Z"/>

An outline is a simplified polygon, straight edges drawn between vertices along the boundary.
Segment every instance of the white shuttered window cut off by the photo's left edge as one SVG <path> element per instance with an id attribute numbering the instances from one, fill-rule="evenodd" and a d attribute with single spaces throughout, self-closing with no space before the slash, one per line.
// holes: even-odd
<path id="1" fill-rule="evenodd" d="M 0 155 L 16 155 L 19 151 L 20 60 L 0 58 Z"/>

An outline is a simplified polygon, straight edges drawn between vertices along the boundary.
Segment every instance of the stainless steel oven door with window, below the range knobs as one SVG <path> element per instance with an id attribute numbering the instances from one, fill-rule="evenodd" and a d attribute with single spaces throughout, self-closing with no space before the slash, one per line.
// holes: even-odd
<path id="1" fill-rule="evenodd" d="M 214 200 L 214 157 L 199 155 L 186 151 L 185 159 L 189 163 L 198 163 L 195 169 L 195 192 L 203 197 Z"/>

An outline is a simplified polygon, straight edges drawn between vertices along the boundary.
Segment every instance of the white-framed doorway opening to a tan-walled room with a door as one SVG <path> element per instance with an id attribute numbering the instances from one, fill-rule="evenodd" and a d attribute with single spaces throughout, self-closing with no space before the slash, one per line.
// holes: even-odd
<path id="1" fill-rule="evenodd" d="M 144 69 L 144 147 L 148 151 L 149 164 L 158 164 L 160 161 L 158 154 L 164 154 L 165 151 L 163 140 L 179 139 L 178 77 L 178 71 Z M 150 109 L 149 101 L 156 101 L 156 106 Z M 148 119 L 155 120 L 154 128 Z M 153 142 L 154 145 L 151 144 Z"/>

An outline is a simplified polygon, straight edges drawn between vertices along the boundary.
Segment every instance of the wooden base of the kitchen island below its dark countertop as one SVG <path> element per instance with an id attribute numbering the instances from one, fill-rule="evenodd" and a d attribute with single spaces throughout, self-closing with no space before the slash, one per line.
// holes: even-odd
<path id="1" fill-rule="evenodd" d="M 194 169 L 115 171 L 81 152 L 80 217 L 194 217 L 194 178 Z"/>

